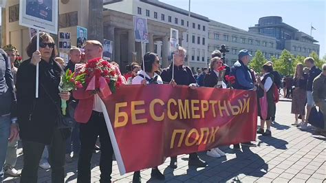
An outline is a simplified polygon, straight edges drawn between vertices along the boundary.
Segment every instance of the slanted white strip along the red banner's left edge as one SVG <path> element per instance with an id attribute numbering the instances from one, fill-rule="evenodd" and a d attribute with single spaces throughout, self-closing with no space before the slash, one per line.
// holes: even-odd
<path id="1" fill-rule="evenodd" d="M 98 97 L 98 96 L 95 96 Z M 102 99 L 100 99 L 100 105 L 102 106 L 103 116 L 105 118 L 105 122 L 107 123 L 107 131 L 109 131 L 109 136 L 111 139 L 111 144 L 113 147 L 114 155 L 116 156 L 118 168 L 120 171 L 120 175 L 123 175 L 126 173 L 126 168 L 124 167 L 122 156 L 120 153 L 120 149 L 118 147 L 118 142 L 116 140 L 116 136 L 114 136 L 114 131 L 111 125 L 111 120 L 109 118 L 109 114 L 107 113 L 107 107 L 105 107 L 105 104 L 103 103 Z"/>

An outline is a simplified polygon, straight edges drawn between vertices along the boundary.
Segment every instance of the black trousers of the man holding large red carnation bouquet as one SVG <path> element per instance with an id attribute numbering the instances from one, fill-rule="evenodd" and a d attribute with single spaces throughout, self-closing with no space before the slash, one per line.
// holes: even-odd
<path id="1" fill-rule="evenodd" d="M 100 136 L 100 182 L 111 182 L 113 148 L 102 113 L 93 111 L 89 122 L 80 124 L 78 183 L 91 182 L 91 155 Z"/>

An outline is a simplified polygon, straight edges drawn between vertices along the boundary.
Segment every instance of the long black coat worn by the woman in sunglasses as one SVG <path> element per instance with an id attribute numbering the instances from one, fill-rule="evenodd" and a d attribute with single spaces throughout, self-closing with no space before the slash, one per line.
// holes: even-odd
<path id="1" fill-rule="evenodd" d="M 17 72 L 17 107 L 20 137 L 22 140 L 50 144 L 61 106 L 58 85 L 61 67 L 52 59 L 39 63 L 39 98 L 35 98 L 36 66 L 30 59 L 24 61 Z M 45 93 L 51 96 L 50 97 Z M 57 107 L 57 106 L 58 107 Z"/>

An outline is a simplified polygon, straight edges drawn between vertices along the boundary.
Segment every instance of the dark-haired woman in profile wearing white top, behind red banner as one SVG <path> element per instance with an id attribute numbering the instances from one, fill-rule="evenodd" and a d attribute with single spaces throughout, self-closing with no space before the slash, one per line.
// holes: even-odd
<path id="1" fill-rule="evenodd" d="M 151 84 L 163 84 L 160 75 L 156 74 L 160 70 L 160 59 L 157 54 L 147 52 L 144 55 L 144 65 L 142 68 L 145 70 L 140 70 L 138 75 L 133 78 L 132 85 L 151 85 Z M 155 180 L 164 180 L 164 175 L 156 167 L 152 168 L 151 178 Z M 133 173 L 133 183 L 141 182 L 140 171 L 135 171 Z"/>

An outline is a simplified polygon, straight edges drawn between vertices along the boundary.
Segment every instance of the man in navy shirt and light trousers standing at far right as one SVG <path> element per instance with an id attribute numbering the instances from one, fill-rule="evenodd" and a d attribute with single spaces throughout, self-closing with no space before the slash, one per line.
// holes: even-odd
<path id="1" fill-rule="evenodd" d="M 307 116 L 305 119 L 305 123 L 301 124 L 301 129 L 307 129 L 307 120 L 309 118 L 310 111 L 312 107 L 314 107 L 314 98 L 312 97 L 312 83 L 314 79 L 321 73 L 321 70 L 316 67 L 314 58 L 307 57 L 305 58 L 305 66 L 309 67 L 309 74 L 307 80 Z"/>

